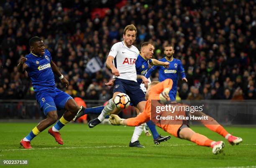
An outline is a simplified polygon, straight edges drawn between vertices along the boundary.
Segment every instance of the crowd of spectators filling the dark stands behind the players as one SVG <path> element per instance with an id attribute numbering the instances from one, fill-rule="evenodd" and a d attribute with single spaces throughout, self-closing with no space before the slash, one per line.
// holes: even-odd
<path id="1" fill-rule="evenodd" d="M 0 99 L 35 99 L 17 65 L 30 52 L 29 39 L 39 36 L 69 80 L 68 94 L 108 100 L 112 92 L 104 83 L 112 74 L 105 60 L 128 24 L 137 27 L 138 49 L 154 43 L 156 59 L 164 57 L 165 45 L 174 45 L 188 80 L 179 83 L 181 99 L 256 98 L 253 0 L 8 0 L 0 6 Z M 65 89 L 57 77 L 56 83 Z"/>

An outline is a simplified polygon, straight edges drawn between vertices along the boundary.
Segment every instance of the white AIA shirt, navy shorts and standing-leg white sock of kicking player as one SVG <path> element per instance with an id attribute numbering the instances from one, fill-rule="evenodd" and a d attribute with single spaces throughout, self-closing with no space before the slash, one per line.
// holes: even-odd
<path id="1" fill-rule="evenodd" d="M 138 48 L 136 48 L 134 45 L 131 45 L 131 47 L 128 48 L 123 41 L 115 43 L 108 54 L 108 56 L 115 58 L 113 60 L 113 65 L 115 65 L 115 68 L 117 68 L 120 73 L 120 76 L 118 77 L 115 75 L 113 76 L 113 78 L 116 78 L 113 93 L 126 93 L 130 97 L 131 103 L 135 107 L 141 101 L 145 101 L 145 93 L 143 92 L 139 83 L 137 83 L 135 63 L 138 58 L 138 54 Z M 138 141 L 138 138 L 144 128 L 145 123 L 135 127 L 129 146 L 132 147 L 133 143 Z"/>

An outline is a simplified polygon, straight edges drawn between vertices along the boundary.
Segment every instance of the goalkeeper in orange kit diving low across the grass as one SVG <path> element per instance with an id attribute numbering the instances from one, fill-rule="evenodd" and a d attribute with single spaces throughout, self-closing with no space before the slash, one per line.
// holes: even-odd
<path id="1" fill-rule="evenodd" d="M 172 89 L 172 80 L 166 79 L 163 82 L 152 82 L 147 89 L 146 92 L 146 107 L 143 113 L 139 114 L 135 118 L 123 119 L 118 115 L 110 115 L 110 123 L 113 125 L 128 125 L 128 126 L 137 126 L 141 123 L 145 123 L 151 120 L 151 100 L 170 100 L 169 91 Z M 179 104 L 181 105 L 181 104 Z M 205 115 L 205 114 L 204 114 Z M 231 145 L 238 145 L 243 141 L 242 138 L 235 137 L 228 133 L 223 126 L 221 126 L 216 120 L 208 116 L 209 120 L 211 120 L 211 124 L 206 124 L 203 120 L 201 123 L 204 124 L 210 130 L 222 135 Z M 200 133 L 196 133 L 189 125 L 183 120 L 180 123 L 176 124 L 161 124 L 156 123 L 157 126 L 162 128 L 164 131 L 174 135 L 177 138 L 190 140 L 197 145 L 207 146 L 212 148 L 212 153 L 218 154 L 223 151 L 225 146 L 223 141 L 214 141 L 207 138 L 205 135 L 201 135 Z"/>

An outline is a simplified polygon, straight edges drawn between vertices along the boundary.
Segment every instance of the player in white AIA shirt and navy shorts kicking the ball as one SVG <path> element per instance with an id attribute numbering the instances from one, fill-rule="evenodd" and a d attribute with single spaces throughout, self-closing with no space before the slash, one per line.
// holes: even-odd
<path id="1" fill-rule="evenodd" d="M 136 40 L 136 35 L 136 27 L 134 25 L 127 25 L 123 31 L 124 40 L 122 42 L 115 43 L 112 46 L 108 58 L 106 60 L 106 65 L 108 66 L 108 68 L 111 69 L 113 78 L 116 78 L 115 87 L 113 91 L 113 100 L 118 93 L 127 93 L 128 96 L 131 98 L 131 103 L 133 103 L 134 106 L 137 106 L 140 112 L 142 112 L 143 107 L 145 107 L 145 95 L 143 91 L 140 89 L 139 84 L 137 83 L 138 77 L 136 74 L 135 63 L 138 58 L 139 51 L 133 45 L 133 42 Z M 144 76 L 142 77 L 142 80 L 143 83 L 147 85 L 148 80 Z M 113 100 L 108 101 L 108 104 L 106 105 L 108 107 L 105 107 L 102 110 L 102 113 L 98 118 L 88 123 L 90 128 L 94 127 L 95 125 L 99 124 L 102 120 L 104 120 L 105 116 L 112 110 L 117 109 L 114 106 L 115 104 L 113 103 Z M 144 103 L 144 105 L 141 105 L 140 103 Z M 116 110 L 114 111 L 114 113 L 119 113 L 119 111 Z M 138 126 L 138 128 L 135 128 L 135 138 L 132 138 L 132 141 L 138 139 L 138 136 L 141 135 L 141 132 L 143 131 L 142 128 L 143 125 L 140 125 Z M 138 144 L 132 144 L 129 146 L 141 147 Z"/>

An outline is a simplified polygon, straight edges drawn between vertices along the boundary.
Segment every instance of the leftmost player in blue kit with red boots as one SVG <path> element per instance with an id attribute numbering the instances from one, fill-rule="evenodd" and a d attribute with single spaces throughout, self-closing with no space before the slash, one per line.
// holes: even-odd
<path id="1" fill-rule="evenodd" d="M 33 37 L 29 40 L 29 45 L 31 53 L 26 55 L 25 58 L 21 58 L 18 64 L 18 71 L 20 73 L 24 72 L 24 70 L 28 72 L 35 90 L 36 100 L 47 118 L 33 128 L 25 138 L 21 139 L 20 145 L 23 148 L 31 149 L 30 141 L 58 120 L 56 107 L 67 111 L 48 132 L 62 145 L 63 140 L 60 137 L 59 130 L 69 123 L 82 108 L 77 106 L 77 103 L 70 95 L 56 88 L 54 74 L 59 76 L 61 83 L 66 87 L 69 82 L 53 62 L 51 53 L 45 48 L 43 40 L 39 37 Z"/>

